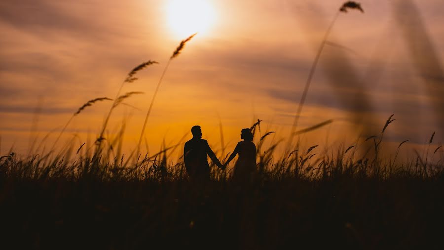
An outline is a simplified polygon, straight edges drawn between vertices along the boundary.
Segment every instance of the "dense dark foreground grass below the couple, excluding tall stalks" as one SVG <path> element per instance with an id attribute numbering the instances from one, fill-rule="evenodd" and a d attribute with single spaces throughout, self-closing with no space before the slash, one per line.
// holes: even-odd
<path id="1" fill-rule="evenodd" d="M 39 167 L 37 161 L 4 158 L 0 244 L 2 249 L 443 248 L 439 166 L 390 171 L 376 162 L 323 160 L 317 174 L 307 174 L 311 165 L 300 165 L 302 160 L 259 167 L 264 170 L 242 183 L 217 169 L 210 181 L 195 183 L 181 164 L 146 161 L 119 168 L 83 159 Z"/>

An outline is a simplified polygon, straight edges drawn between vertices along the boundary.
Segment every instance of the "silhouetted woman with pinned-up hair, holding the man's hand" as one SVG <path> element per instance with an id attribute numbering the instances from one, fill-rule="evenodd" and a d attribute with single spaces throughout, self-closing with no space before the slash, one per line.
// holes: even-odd
<path id="1" fill-rule="evenodd" d="M 239 159 L 234 165 L 233 179 L 240 181 L 250 180 L 252 173 L 256 171 L 256 145 L 253 143 L 253 134 L 249 128 L 242 129 L 241 139 L 243 141 L 237 143 L 233 153 L 224 164 L 226 167 L 239 154 Z"/>

